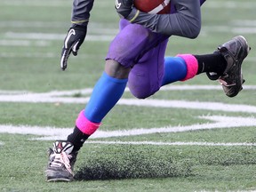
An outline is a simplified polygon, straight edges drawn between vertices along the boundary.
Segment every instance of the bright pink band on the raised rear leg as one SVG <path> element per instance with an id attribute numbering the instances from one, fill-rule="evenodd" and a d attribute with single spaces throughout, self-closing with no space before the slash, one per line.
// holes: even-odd
<path id="1" fill-rule="evenodd" d="M 185 76 L 185 78 L 181 81 L 186 81 L 196 76 L 198 70 L 198 62 L 192 54 L 178 54 L 176 57 L 180 57 L 185 60 L 187 65 L 187 76 Z"/>

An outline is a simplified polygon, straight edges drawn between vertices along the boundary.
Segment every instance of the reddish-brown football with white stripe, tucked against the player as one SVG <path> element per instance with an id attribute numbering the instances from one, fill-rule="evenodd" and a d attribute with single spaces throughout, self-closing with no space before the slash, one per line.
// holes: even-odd
<path id="1" fill-rule="evenodd" d="M 168 14 L 171 12 L 171 0 L 134 0 L 134 6 L 141 12 L 150 14 Z"/>

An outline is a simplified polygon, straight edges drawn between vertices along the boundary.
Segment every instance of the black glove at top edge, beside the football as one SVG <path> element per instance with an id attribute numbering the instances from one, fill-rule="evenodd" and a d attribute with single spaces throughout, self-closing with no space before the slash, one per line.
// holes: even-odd
<path id="1" fill-rule="evenodd" d="M 133 0 L 116 0 L 116 12 L 126 18 L 132 12 Z"/>

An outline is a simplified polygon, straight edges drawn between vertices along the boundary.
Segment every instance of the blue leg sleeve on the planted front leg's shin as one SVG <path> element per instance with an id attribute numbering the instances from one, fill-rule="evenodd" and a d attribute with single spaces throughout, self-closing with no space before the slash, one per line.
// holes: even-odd
<path id="1" fill-rule="evenodd" d="M 84 115 L 93 123 L 100 123 L 104 116 L 122 97 L 128 79 L 116 79 L 105 72 L 100 76 L 92 91 L 91 99 L 84 110 Z"/>

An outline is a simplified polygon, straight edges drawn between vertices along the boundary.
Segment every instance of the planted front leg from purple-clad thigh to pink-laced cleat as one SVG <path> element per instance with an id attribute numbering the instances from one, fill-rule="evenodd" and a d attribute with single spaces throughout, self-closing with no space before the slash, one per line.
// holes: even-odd
<path id="1" fill-rule="evenodd" d="M 149 47 L 148 29 L 139 25 L 123 27 L 110 44 L 105 71 L 95 84 L 85 109 L 78 115 L 73 132 L 68 135 L 67 140 L 56 141 L 50 149 L 46 170 L 48 181 L 73 180 L 73 166 L 78 150 L 100 127 L 102 119 L 121 98 L 131 66 L 143 54 L 145 47 Z"/>

